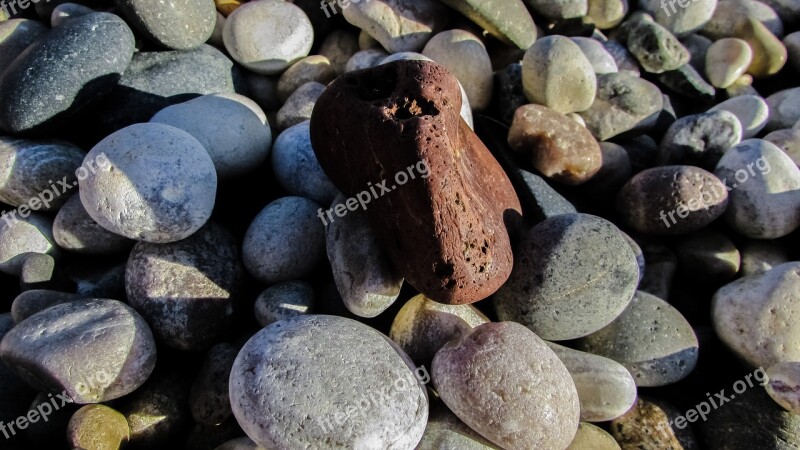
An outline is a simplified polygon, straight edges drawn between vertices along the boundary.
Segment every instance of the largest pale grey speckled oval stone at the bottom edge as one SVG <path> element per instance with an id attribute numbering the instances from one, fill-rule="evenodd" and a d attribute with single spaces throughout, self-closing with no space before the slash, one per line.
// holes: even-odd
<path id="1" fill-rule="evenodd" d="M 301 316 L 247 341 L 231 369 L 231 405 L 262 447 L 411 448 L 428 419 L 412 370 L 367 325 Z"/>

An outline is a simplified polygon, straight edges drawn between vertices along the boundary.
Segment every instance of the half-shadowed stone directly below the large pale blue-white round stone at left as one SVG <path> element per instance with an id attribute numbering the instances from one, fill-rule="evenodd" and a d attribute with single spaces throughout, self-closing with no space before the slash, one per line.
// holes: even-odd
<path id="1" fill-rule="evenodd" d="M 106 230 L 86 212 L 79 195 L 58 210 L 53 238 L 59 247 L 87 255 L 113 255 L 130 248 L 131 240 Z"/>

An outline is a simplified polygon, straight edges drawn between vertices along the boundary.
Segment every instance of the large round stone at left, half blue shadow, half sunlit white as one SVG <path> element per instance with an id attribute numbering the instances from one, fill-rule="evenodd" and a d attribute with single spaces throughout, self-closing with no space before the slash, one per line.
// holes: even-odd
<path id="1" fill-rule="evenodd" d="M 214 162 L 189 133 L 158 123 L 131 125 L 100 141 L 85 161 L 101 155 L 107 164 L 79 185 L 84 208 L 103 228 L 166 243 L 190 236 L 211 217 Z"/>

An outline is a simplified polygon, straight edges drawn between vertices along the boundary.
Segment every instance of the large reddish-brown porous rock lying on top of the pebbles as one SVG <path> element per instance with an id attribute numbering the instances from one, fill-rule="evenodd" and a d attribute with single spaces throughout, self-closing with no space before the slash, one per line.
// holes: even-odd
<path id="1" fill-rule="evenodd" d="M 521 216 L 508 177 L 460 109 L 458 81 L 442 66 L 396 61 L 338 78 L 311 117 L 320 164 L 345 195 L 367 199 L 395 267 L 450 304 L 482 300 L 506 281 L 509 230 Z"/>

